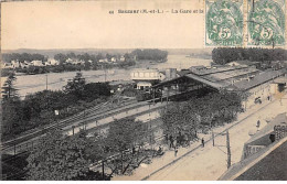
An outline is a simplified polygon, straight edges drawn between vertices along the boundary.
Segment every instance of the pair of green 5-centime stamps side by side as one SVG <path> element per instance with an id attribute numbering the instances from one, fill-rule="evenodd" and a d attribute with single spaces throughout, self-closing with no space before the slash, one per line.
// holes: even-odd
<path id="1" fill-rule="evenodd" d="M 284 46 L 286 0 L 205 0 L 206 46 Z"/>

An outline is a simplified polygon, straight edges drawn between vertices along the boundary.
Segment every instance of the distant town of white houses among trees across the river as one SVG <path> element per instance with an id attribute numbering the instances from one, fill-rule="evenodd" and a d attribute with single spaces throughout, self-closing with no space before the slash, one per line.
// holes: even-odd
<path id="1" fill-rule="evenodd" d="M 131 53 L 108 54 L 55 54 L 54 57 L 42 54 L 11 53 L 2 55 L 2 76 L 15 71 L 23 74 L 61 73 L 70 71 L 89 71 L 125 68 L 136 64 L 136 61 L 150 59 L 164 62 L 168 53 L 160 50 L 135 50 Z"/>

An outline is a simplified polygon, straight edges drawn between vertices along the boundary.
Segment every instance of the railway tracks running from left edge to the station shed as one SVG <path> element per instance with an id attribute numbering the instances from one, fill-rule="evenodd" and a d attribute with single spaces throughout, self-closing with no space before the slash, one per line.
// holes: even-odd
<path id="1" fill-rule="evenodd" d="M 63 132 L 66 132 L 66 134 L 71 134 L 72 129 L 76 128 L 77 130 L 79 130 L 82 128 L 82 126 L 84 125 L 91 125 L 94 123 L 93 127 L 91 128 L 95 128 L 97 126 L 102 126 L 108 122 L 103 122 L 103 119 L 106 121 L 113 121 L 114 116 L 117 117 L 117 119 L 121 119 L 125 117 L 135 117 L 136 115 L 142 115 L 145 112 L 147 112 L 150 109 L 147 109 L 147 107 L 150 107 L 151 102 L 163 102 L 164 100 L 168 100 L 167 96 L 163 96 L 162 98 L 155 98 L 155 99 L 149 99 L 146 101 L 136 101 L 135 99 L 127 99 L 127 100 L 119 100 L 121 98 L 121 93 L 123 90 L 118 91 L 117 94 L 115 94 L 113 96 L 113 98 L 104 104 L 100 104 L 98 106 L 95 106 L 93 108 L 86 109 L 85 111 L 82 111 L 75 116 L 68 117 L 64 120 L 60 120 L 57 122 L 54 122 L 52 125 L 49 125 L 44 128 L 38 129 L 33 132 L 29 132 L 28 134 L 23 134 L 21 137 L 18 137 L 15 139 L 2 142 L 1 144 L 1 151 L 2 153 L 14 153 L 17 154 L 18 152 L 22 152 L 21 148 L 26 148 L 23 149 L 23 151 L 26 151 L 29 147 L 33 147 L 33 143 L 41 138 L 42 136 L 44 136 L 49 130 L 52 130 L 54 128 L 60 128 L 63 130 Z M 171 97 L 172 95 L 180 95 L 178 94 L 172 94 L 170 93 L 169 96 Z M 118 101 L 118 104 L 116 105 L 114 101 Z M 160 106 L 160 105 L 159 105 Z M 152 109 L 157 109 L 158 107 L 153 107 Z M 137 111 L 135 112 L 135 109 L 137 109 Z M 126 115 L 124 117 L 124 112 L 128 113 L 128 111 L 134 111 L 134 115 Z M 121 115 L 121 116 L 118 116 Z M 118 118 L 119 117 L 119 118 Z M 113 118 L 113 119 L 110 119 Z M 95 122 L 97 121 L 102 121 L 100 125 L 96 125 Z M 74 127 L 74 128 L 73 128 Z M 83 127 L 84 128 L 84 127 Z M 17 148 L 19 151 L 17 152 Z"/>

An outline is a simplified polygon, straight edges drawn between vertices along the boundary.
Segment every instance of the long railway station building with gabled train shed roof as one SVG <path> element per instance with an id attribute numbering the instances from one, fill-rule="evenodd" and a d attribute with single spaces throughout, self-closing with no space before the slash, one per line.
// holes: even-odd
<path id="1" fill-rule="evenodd" d="M 243 102 L 243 108 L 246 110 L 263 100 L 273 100 L 276 94 L 281 94 L 286 88 L 285 75 L 286 68 L 262 72 L 247 65 L 226 65 L 205 69 L 192 67 L 181 73 L 181 76 L 162 80 L 151 88 L 160 90 L 163 97 L 192 94 L 203 89 L 245 93 L 248 97 Z"/>

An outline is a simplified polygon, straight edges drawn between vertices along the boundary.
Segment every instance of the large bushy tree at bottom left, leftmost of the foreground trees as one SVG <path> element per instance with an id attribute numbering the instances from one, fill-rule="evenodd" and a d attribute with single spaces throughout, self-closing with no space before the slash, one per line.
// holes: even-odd
<path id="1" fill-rule="evenodd" d="M 28 180 L 86 178 L 91 173 L 91 162 L 85 159 L 86 147 L 85 137 L 63 137 L 59 130 L 46 133 L 28 158 Z"/>

